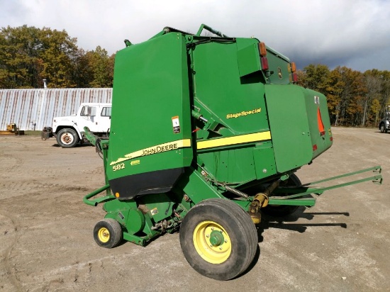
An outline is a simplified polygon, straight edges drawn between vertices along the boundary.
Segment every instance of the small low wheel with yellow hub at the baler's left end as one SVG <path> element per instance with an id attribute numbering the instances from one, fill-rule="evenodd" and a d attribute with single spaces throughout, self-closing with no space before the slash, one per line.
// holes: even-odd
<path id="1" fill-rule="evenodd" d="M 96 223 L 94 228 L 94 240 L 99 246 L 113 248 L 118 246 L 122 239 L 123 231 L 121 224 L 119 224 L 118 221 L 108 218 Z"/>

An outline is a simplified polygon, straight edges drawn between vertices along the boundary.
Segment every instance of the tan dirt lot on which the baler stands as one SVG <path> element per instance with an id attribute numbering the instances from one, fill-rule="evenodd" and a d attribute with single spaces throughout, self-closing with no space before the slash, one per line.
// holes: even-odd
<path id="1" fill-rule="evenodd" d="M 390 135 L 333 135 L 333 147 L 297 173 L 303 183 L 381 164 L 384 184 L 328 191 L 284 222 L 264 220 L 255 262 L 225 282 L 191 269 L 178 233 L 147 247 L 95 244 L 104 211 L 82 203 L 104 185 L 94 147 L 0 136 L 0 291 L 390 291 Z"/>

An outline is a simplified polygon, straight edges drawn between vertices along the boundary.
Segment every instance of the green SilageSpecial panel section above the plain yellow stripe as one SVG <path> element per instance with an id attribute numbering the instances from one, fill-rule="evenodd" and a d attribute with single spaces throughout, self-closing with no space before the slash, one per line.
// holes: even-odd
<path id="1" fill-rule="evenodd" d="M 213 118 L 224 126 L 218 132 L 222 136 L 269 128 L 262 76 L 242 79 L 238 68 L 238 50 L 255 40 L 236 42 L 196 45 L 192 52 L 194 105 L 201 108 L 205 118 Z"/>

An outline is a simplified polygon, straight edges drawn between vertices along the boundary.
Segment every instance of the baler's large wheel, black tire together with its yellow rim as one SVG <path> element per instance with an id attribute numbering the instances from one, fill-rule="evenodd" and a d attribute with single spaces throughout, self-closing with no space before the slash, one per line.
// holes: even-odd
<path id="1" fill-rule="evenodd" d="M 233 201 L 221 198 L 201 201 L 191 208 L 179 237 L 187 262 L 199 274 L 216 280 L 242 274 L 258 247 L 250 215 Z"/>

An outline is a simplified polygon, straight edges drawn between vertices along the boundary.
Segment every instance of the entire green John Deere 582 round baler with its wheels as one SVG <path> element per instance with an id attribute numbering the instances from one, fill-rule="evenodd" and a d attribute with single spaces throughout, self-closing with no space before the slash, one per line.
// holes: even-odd
<path id="1" fill-rule="evenodd" d="M 201 36 L 204 29 L 213 36 Z M 125 43 L 116 54 L 109 140 L 86 129 L 106 172 L 106 186 L 84 198 L 104 203 L 98 245 L 145 245 L 179 229 L 196 271 L 232 279 L 255 257 L 262 212 L 289 215 L 313 206 L 311 193 L 342 186 L 302 186 L 294 174 L 333 137 L 325 96 L 297 86 L 284 55 L 204 25 L 196 35 L 165 28 Z M 360 172 L 367 171 L 380 167 Z M 369 180 L 381 175 L 348 184 Z"/>

